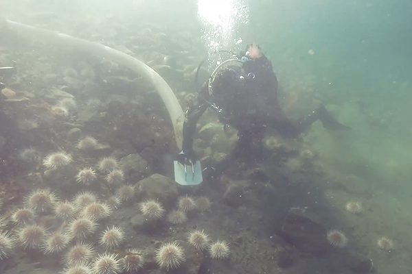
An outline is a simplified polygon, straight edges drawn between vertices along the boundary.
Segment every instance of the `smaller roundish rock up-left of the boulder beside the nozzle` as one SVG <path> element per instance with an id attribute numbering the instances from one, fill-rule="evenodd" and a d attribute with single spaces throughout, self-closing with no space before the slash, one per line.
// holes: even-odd
<path id="1" fill-rule="evenodd" d="M 124 175 L 132 182 L 136 182 L 150 174 L 148 162 L 137 153 L 129 154 L 120 159 L 119 165 Z"/>

